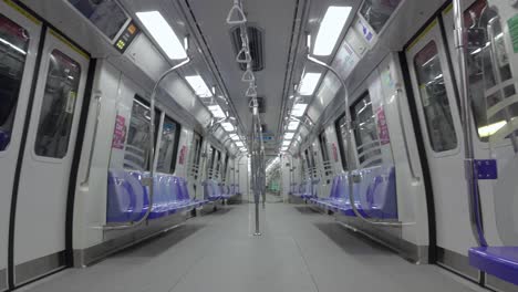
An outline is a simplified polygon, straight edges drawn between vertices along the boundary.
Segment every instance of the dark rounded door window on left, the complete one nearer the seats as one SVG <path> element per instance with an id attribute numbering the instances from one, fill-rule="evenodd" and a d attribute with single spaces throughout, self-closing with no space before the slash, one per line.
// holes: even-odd
<path id="1" fill-rule="evenodd" d="M 52 51 L 34 145 L 37 155 L 63 158 L 69 152 L 80 77 L 77 62 Z"/>

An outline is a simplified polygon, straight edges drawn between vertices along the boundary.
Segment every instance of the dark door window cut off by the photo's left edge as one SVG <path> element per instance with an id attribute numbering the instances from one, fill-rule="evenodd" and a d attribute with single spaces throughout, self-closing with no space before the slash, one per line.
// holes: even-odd
<path id="1" fill-rule="evenodd" d="M 0 152 L 11 140 L 29 40 L 28 31 L 0 14 Z"/>

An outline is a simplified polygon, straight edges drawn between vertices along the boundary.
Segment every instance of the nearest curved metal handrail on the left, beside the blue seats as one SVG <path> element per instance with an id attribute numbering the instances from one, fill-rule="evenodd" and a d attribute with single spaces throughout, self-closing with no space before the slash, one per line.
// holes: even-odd
<path id="1" fill-rule="evenodd" d="M 136 222 L 131 222 L 127 225 L 120 225 L 120 226 L 104 226 L 104 230 L 124 230 L 128 228 L 135 228 L 147 221 L 147 218 L 149 217 L 152 209 L 153 209 L 153 198 L 154 198 L 154 191 L 155 191 L 155 184 L 154 184 L 154 177 L 155 177 L 155 98 L 156 98 L 156 92 L 158 91 L 158 86 L 160 85 L 160 82 L 167 77 L 170 73 L 176 72 L 176 70 L 187 65 L 190 63 L 190 58 L 187 56 L 186 60 L 180 62 L 179 64 L 173 66 L 172 69 L 167 70 L 164 72 L 160 77 L 156 81 L 155 86 L 153 87 L 152 95 L 149 97 L 149 111 L 151 111 L 151 121 L 149 121 L 149 160 L 152 161 L 151 165 L 151 177 L 148 179 L 143 179 L 144 185 L 147 185 L 149 187 L 149 192 L 148 192 L 148 202 L 149 202 L 149 208 L 147 208 L 146 213 L 141 218 L 141 220 Z"/>

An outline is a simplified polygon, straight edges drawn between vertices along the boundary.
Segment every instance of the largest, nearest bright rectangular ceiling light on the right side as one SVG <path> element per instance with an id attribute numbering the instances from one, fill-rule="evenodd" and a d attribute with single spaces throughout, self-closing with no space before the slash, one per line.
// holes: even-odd
<path id="1" fill-rule="evenodd" d="M 328 8 L 314 41 L 313 54 L 330 55 L 333 52 L 351 10 L 351 7 Z"/>

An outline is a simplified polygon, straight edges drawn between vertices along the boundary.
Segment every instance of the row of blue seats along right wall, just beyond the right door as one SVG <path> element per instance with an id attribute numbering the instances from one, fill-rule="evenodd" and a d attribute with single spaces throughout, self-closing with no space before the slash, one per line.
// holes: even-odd
<path id="1" fill-rule="evenodd" d="M 397 219 L 397 197 L 394 167 L 376 166 L 353 170 L 355 181 L 352 181 L 354 206 L 360 213 L 367 218 Z M 319 207 L 355 217 L 350 200 L 350 181 L 348 174 L 340 174 L 333 178 L 329 197 L 308 198 Z"/>

